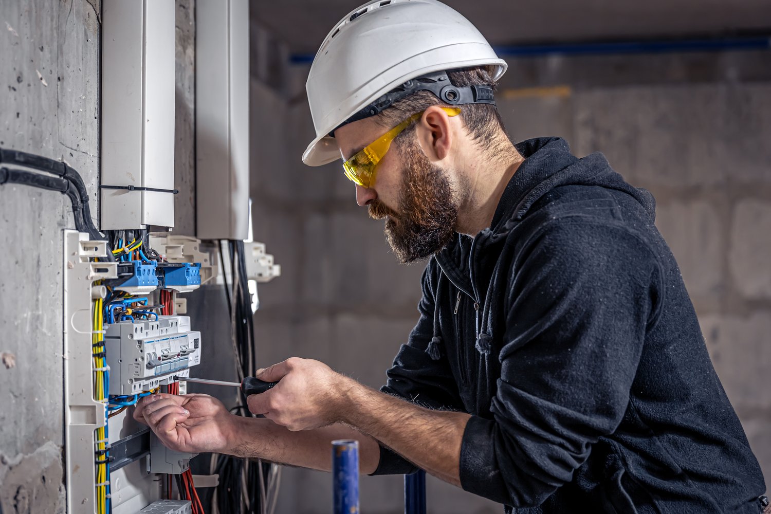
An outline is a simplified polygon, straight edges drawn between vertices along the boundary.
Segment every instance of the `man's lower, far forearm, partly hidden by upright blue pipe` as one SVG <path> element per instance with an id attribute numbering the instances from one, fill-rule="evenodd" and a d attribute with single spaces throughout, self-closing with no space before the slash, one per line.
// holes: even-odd
<path id="1" fill-rule="evenodd" d="M 380 461 L 378 442 L 369 435 L 345 425 L 330 425 L 314 430 L 291 432 L 264 418 L 236 416 L 231 442 L 224 453 L 238 457 L 255 457 L 281 464 L 329 471 L 332 468 L 332 446 L 335 439 L 359 441 L 359 469 L 372 473 Z"/>

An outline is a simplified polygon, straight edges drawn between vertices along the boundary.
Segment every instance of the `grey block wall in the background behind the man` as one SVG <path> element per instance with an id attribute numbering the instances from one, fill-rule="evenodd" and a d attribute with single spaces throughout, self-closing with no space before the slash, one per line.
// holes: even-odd
<path id="1" fill-rule="evenodd" d="M 771 52 L 515 59 L 499 106 L 513 140 L 602 151 L 658 200 L 712 358 L 771 477 Z M 763 72 L 763 70 L 766 70 Z M 423 266 L 401 267 L 339 163 L 301 164 L 313 136 L 302 82 L 252 86 L 254 237 L 282 265 L 260 289 L 263 364 L 317 358 L 372 387 L 416 321 Z M 287 93 L 288 90 L 288 93 Z M 767 375 L 767 371 L 766 371 Z M 363 477 L 362 510 L 400 512 L 401 477 Z M 280 512 L 328 512 L 331 477 L 284 469 Z M 429 478 L 429 512 L 500 506 Z"/>

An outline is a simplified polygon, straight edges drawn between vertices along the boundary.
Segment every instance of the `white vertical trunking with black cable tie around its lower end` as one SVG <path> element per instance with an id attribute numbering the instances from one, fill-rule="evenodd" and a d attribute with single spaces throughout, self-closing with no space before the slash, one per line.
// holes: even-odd
<path id="1" fill-rule="evenodd" d="M 173 0 L 103 0 L 102 186 L 173 190 Z M 102 230 L 173 227 L 173 194 L 101 190 Z"/>

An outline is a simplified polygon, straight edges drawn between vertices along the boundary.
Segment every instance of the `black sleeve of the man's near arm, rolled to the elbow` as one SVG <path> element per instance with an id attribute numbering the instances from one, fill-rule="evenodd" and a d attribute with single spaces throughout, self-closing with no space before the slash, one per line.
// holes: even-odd
<path id="1" fill-rule="evenodd" d="M 661 272 L 625 227 L 557 219 L 510 270 L 493 419 L 463 433 L 463 489 L 538 506 L 621 423 Z M 494 358 L 494 357 L 493 357 Z"/>

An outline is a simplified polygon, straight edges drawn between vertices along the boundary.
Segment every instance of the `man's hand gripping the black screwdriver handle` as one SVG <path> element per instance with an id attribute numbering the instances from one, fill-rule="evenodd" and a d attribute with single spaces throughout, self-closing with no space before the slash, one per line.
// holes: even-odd
<path id="1" fill-rule="evenodd" d="M 258 370 L 257 378 L 274 388 L 247 398 L 249 410 L 292 432 L 332 425 L 345 405 L 345 377 L 323 362 L 289 358 Z"/>

